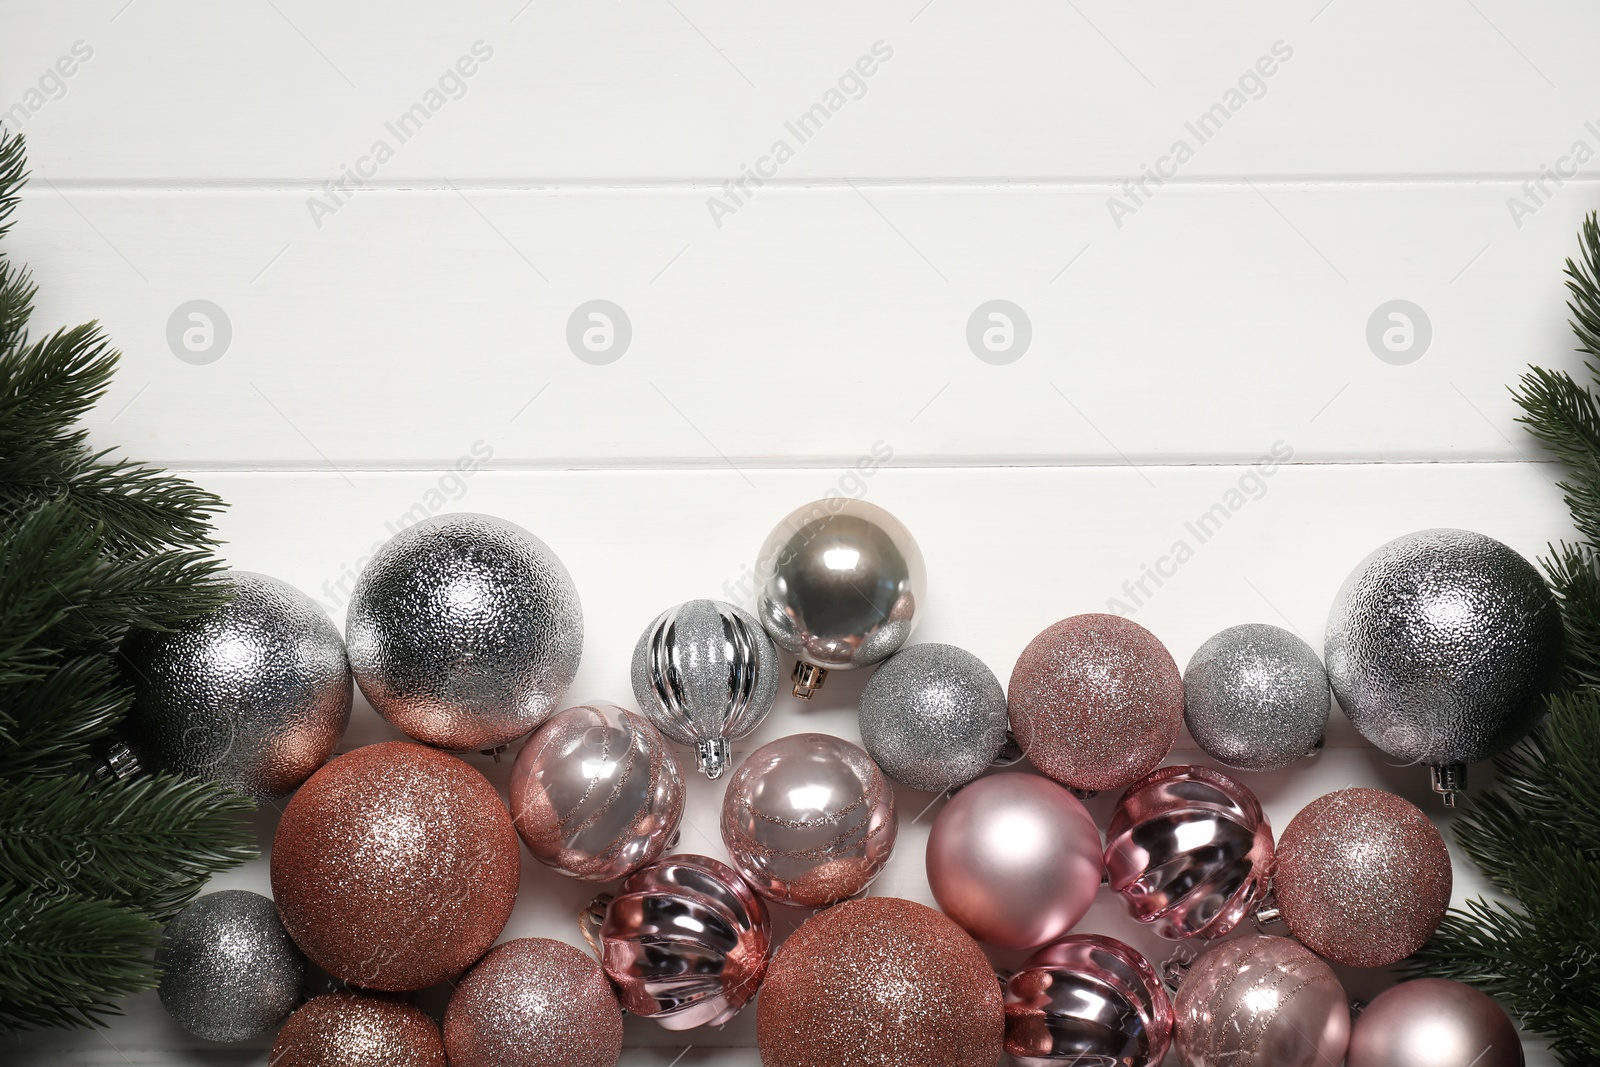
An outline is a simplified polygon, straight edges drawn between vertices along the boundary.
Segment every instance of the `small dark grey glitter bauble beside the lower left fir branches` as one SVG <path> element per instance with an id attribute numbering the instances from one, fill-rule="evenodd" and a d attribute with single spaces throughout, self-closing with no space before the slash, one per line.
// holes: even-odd
<path id="1" fill-rule="evenodd" d="M 155 947 L 162 1005 L 195 1037 L 248 1041 L 270 1033 L 299 1003 L 306 960 L 259 893 L 198 897 Z"/>

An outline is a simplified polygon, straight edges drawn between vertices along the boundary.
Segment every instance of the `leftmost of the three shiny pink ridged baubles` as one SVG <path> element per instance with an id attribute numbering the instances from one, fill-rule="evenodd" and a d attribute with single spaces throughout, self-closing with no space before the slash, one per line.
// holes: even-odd
<path id="1" fill-rule="evenodd" d="M 771 955 L 766 905 L 733 867 L 707 856 L 669 856 L 634 872 L 600 926 L 600 963 L 622 1006 L 667 1030 L 736 1016 Z"/>

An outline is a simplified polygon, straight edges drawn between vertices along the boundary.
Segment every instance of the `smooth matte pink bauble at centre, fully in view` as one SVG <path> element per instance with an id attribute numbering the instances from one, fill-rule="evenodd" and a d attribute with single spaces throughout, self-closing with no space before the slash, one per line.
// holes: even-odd
<path id="1" fill-rule="evenodd" d="M 925 862 L 944 913 L 1006 949 L 1072 929 L 1101 885 L 1094 821 L 1038 774 L 992 774 L 963 787 L 934 819 Z"/>

